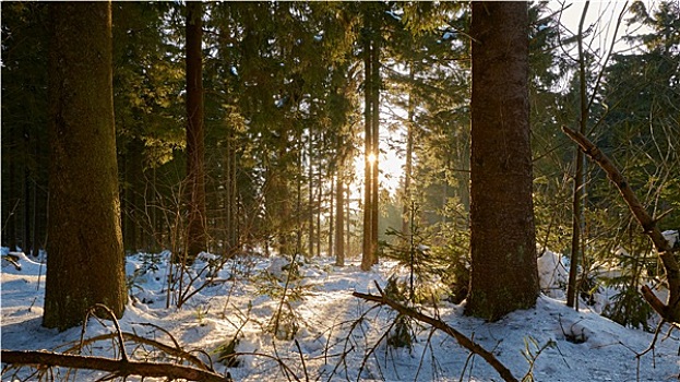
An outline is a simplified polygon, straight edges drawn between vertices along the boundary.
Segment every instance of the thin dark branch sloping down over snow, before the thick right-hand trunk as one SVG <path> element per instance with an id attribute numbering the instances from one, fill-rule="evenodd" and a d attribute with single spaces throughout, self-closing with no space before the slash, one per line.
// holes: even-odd
<path id="1" fill-rule="evenodd" d="M 378 286 L 378 285 L 377 285 Z M 351 295 L 361 299 L 365 299 L 367 301 L 372 301 L 372 302 L 378 302 L 379 305 L 385 305 L 394 310 L 396 310 L 397 312 L 404 314 L 404 315 L 408 315 L 411 319 L 418 320 L 420 322 L 425 322 L 429 325 L 431 325 L 432 327 L 439 329 L 440 331 L 449 334 L 450 336 L 454 337 L 458 344 L 461 344 L 461 346 L 465 347 L 466 349 L 470 350 L 474 354 L 479 355 L 481 358 L 484 358 L 485 361 L 487 361 L 493 369 L 496 369 L 496 371 L 498 371 L 498 373 L 501 375 L 501 378 L 505 381 L 517 381 L 516 378 L 514 378 L 514 375 L 512 374 L 512 372 L 503 365 L 501 363 L 501 361 L 498 360 L 498 358 L 496 358 L 496 356 L 488 351 L 487 349 L 485 349 L 484 347 L 481 347 L 480 345 L 478 345 L 477 343 L 473 342 L 472 339 L 469 339 L 468 337 L 466 337 L 463 333 L 456 331 L 455 329 L 449 326 L 445 322 L 438 320 L 436 318 L 426 315 L 423 313 L 420 313 L 411 308 L 405 307 L 396 301 L 393 301 L 391 299 L 389 299 L 387 297 L 385 297 L 385 295 L 382 293 L 382 290 L 380 289 L 380 287 L 378 287 L 378 289 L 380 290 L 380 296 L 375 296 L 375 295 L 367 295 L 367 294 L 361 294 L 358 291 L 353 293 Z"/>

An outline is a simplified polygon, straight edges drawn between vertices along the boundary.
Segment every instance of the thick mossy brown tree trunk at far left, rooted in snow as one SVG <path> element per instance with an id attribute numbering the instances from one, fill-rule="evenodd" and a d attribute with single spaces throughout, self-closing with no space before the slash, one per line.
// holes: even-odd
<path id="1" fill-rule="evenodd" d="M 43 324 L 65 330 L 127 302 L 111 91 L 110 2 L 53 2 L 49 241 Z"/>

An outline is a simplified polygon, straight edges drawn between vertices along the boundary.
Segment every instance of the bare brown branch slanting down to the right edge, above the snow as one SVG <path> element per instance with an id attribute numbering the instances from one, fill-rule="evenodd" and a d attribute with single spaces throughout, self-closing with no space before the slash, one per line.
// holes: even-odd
<path id="1" fill-rule="evenodd" d="M 583 134 L 569 128 L 562 127 L 562 131 L 588 156 L 595 160 L 601 167 L 607 177 L 619 189 L 623 200 L 628 204 L 629 208 L 642 226 L 645 235 L 652 239 L 654 248 L 658 252 L 659 259 L 666 270 L 666 277 L 668 280 L 668 302 L 664 303 L 652 291 L 652 289 L 644 285 L 642 287 L 642 296 L 649 303 L 649 306 L 661 317 L 661 319 L 680 323 L 680 266 L 673 255 L 673 250 L 670 243 L 660 229 L 656 226 L 656 220 L 649 216 L 645 207 L 640 203 L 635 193 L 630 188 L 630 184 L 623 177 L 623 175 L 616 168 L 613 163 L 603 153 L 595 144 L 588 141 Z"/>

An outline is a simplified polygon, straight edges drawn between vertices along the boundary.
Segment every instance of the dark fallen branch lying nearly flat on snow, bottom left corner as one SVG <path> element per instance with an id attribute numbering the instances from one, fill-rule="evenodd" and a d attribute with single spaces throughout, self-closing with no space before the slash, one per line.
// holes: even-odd
<path id="1" fill-rule="evenodd" d="M 148 378 L 184 379 L 189 381 L 225 382 L 228 377 L 190 366 L 174 363 L 140 362 L 104 357 L 77 356 L 48 351 L 1 350 L 2 363 L 36 365 L 40 367 L 64 367 L 73 369 L 100 370 L 114 377 L 140 375 Z"/>

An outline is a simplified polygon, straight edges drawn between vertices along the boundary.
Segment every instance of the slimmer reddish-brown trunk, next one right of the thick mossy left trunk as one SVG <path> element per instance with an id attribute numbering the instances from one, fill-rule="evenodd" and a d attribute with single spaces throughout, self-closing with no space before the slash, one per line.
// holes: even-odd
<path id="1" fill-rule="evenodd" d="M 205 227 L 205 143 L 203 127 L 203 9 L 187 2 L 187 253 L 186 263 L 207 249 Z"/>

